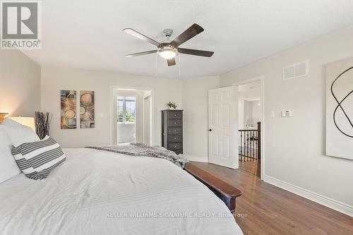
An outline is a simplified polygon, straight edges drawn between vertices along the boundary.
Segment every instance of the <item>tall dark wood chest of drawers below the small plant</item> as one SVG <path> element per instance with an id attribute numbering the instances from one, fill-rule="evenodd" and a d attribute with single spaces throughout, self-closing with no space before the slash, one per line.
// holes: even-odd
<path id="1" fill-rule="evenodd" d="M 183 110 L 162 110 L 162 147 L 183 153 Z"/>

